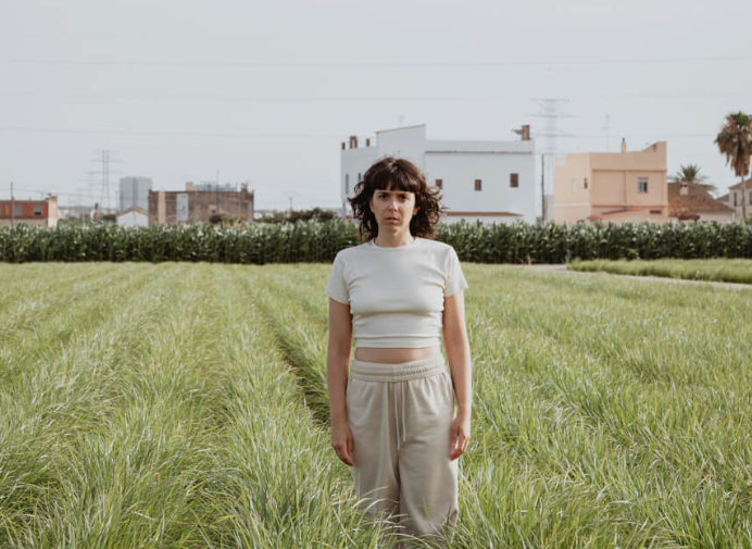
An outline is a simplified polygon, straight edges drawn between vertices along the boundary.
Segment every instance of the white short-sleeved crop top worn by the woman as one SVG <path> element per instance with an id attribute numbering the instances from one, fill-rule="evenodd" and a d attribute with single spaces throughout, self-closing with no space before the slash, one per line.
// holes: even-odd
<path id="1" fill-rule="evenodd" d="M 325 294 L 350 305 L 355 347 L 417 348 L 441 345 L 443 298 L 465 288 L 454 248 L 415 238 L 341 250 Z"/>

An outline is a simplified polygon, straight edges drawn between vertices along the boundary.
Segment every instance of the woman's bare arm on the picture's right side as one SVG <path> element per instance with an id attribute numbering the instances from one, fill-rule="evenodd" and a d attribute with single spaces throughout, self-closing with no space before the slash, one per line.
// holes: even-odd
<path id="1" fill-rule="evenodd" d="M 443 303 L 443 345 L 452 373 L 458 413 L 450 433 L 449 457 L 454 460 L 465 453 L 471 434 L 471 409 L 473 407 L 473 367 L 469 344 L 465 328 L 464 294 L 458 291 Z"/>

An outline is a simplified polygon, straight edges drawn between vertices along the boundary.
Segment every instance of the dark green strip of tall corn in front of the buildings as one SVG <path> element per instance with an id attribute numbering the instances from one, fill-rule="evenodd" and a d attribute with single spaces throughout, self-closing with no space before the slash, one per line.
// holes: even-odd
<path id="1" fill-rule="evenodd" d="M 565 263 L 618 259 L 752 259 L 752 225 L 481 225 L 441 224 L 438 239 L 462 261 L 476 263 Z M 0 262 L 203 261 L 296 263 L 331 261 L 359 244 L 356 225 L 331 223 L 0 228 Z"/>

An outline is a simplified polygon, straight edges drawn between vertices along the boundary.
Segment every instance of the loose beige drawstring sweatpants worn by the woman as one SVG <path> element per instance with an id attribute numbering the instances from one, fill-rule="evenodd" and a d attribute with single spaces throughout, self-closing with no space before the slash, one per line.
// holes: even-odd
<path id="1" fill-rule="evenodd" d="M 362 508 L 443 547 L 458 516 L 458 462 L 449 460 L 454 389 L 443 357 L 353 360 L 347 415 Z"/>

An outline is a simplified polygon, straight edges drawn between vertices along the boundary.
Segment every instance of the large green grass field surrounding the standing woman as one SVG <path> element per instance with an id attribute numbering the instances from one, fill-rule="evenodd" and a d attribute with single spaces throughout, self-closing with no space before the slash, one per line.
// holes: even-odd
<path id="1" fill-rule="evenodd" d="M 0 264 L 0 547 L 376 547 L 329 265 Z M 461 548 L 752 546 L 752 296 L 464 265 Z"/>

